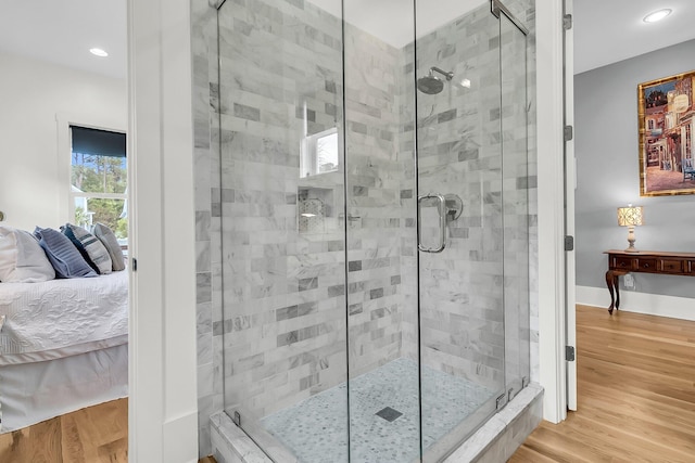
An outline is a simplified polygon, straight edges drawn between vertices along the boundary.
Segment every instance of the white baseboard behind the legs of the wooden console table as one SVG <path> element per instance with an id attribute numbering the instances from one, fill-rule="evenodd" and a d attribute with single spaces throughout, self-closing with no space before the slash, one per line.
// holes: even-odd
<path id="1" fill-rule="evenodd" d="M 577 286 L 577 304 L 607 309 L 610 294 L 606 287 Z M 695 299 L 690 297 L 621 291 L 620 310 L 695 321 Z"/>

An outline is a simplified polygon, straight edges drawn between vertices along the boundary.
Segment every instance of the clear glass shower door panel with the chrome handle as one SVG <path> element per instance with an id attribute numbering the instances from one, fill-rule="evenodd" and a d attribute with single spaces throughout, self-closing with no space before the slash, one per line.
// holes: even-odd
<path id="1" fill-rule="evenodd" d="M 506 399 L 501 36 L 490 2 L 417 24 L 422 461 L 437 462 Z"/>

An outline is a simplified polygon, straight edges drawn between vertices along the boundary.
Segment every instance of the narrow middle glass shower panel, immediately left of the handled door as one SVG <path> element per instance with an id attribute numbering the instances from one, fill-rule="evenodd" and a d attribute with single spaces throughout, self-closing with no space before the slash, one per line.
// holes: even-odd
<path id="1" fill-rule="evenodd" d="M 415 462 L 414 3 L 366 4 L 343 2 L 350 461 Z"/>

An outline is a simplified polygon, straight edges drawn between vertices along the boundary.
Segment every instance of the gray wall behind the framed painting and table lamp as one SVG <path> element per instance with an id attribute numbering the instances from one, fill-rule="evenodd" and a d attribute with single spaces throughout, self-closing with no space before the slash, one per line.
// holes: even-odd
<path id="1" fill-rule="evenodd" d="M 628 246 L 616 208 L 644 206 L 637 249 L 695 252 L 695 196 L 640 197 L 637 85 L 695 68 L 695 40 L 574 76 L 577 285 L 605 287 L 606 249 Z M 634 275 L 636 291 L 695 297 L 687 276 Z M 621 286 L 622 287 L 622 286 Z"/>

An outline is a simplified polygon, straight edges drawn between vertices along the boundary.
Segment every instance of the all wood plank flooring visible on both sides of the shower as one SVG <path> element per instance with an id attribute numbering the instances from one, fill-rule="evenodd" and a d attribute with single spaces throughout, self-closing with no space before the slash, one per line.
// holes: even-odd
<path id="1" fill-rule="evenodd" d="M 542 423 L 511 463 L 695 462 L 695 322 L 578 306 L 577 366 L 579 411 Z M 126 463 L 127 404 L 0 435 L 0 462 Z"/>

